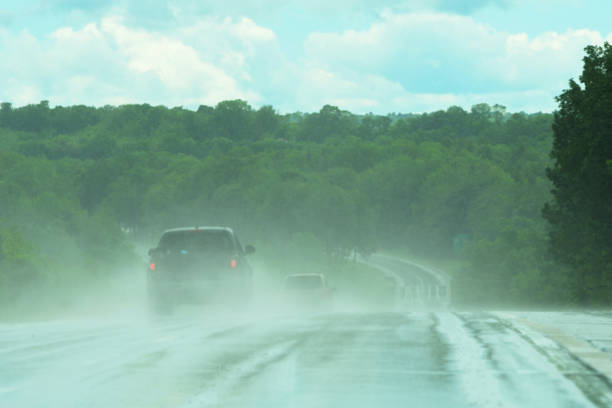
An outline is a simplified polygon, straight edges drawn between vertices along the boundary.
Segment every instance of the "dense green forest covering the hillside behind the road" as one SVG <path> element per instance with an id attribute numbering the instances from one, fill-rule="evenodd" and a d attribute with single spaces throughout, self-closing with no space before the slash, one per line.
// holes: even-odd
<path id="1" fill-rule="evenodd" d="M 1 302 L 142 268 L 162 230 L 192 225 L 232 226 L 284 270 L 355 248 L 427 260 L 459 305 L 609 302 L 610 278 L 589 287 L 550 250 L 563 112 L 3 103 Z"/>

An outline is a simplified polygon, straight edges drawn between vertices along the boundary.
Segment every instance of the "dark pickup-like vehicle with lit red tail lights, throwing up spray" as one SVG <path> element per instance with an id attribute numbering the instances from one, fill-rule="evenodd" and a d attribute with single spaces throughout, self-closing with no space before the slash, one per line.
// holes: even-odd
<path id="1" fill-rule="evenodd" d="M 149 250 L 147 288 L 152 308 L 171 313 L 181 303 L 244 305 L 251 296 L 252 270 L 238 237 L 227 227 L 167 230 Z"/>

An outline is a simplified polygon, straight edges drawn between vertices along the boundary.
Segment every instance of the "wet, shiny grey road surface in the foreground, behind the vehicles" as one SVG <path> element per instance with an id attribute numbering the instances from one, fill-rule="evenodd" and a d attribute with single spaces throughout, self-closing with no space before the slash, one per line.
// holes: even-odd
<path id="1" fill-rule="evenodd" d="M 491 313 L 201 316 L 0 325 L 0 407 L 612 406 Z"/>

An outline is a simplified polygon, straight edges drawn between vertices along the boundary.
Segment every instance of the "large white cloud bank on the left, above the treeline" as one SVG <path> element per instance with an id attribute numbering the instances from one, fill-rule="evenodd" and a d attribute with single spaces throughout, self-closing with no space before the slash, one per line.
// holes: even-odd
<path id="1" fill-rule="evenodd" d="M 10 57 L 0 62 L 0 72 L 13 78 L 13 85 L 0 90 L 0 99 L 16 104 L 42 97 L 54 104 L 122 101 L 195 106 L 225 99 L 260 100 L 243 82 L 250 79 L 248 59 L 257 54 L 257 44 L 273 41 L 273 33 L 248 19 L 195 28 L 198 35 L 219 43 L 228 36 L 238 43 L 229 49 L 218 43 L 214 49 L 202 48 L 205 42 L 193 46 L 189 41 L 196 39 L 184 33 L 133 29 L 118 17 L 81 29 L 62 27 L 43 39 L 27 32 L 17 36 L 5 32 L 0 47 Z"/>

